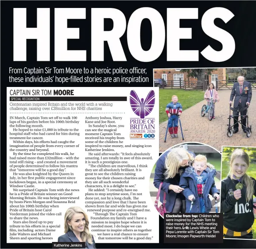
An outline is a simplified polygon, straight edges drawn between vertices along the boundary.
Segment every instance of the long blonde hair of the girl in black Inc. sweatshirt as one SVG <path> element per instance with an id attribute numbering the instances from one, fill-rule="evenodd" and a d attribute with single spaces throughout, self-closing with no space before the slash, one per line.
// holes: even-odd
<path id="1" fill-rule="evenodd" d="M 246 162 L 246 164 L 247 164 L 246 170 L 248 170 L 248 168 L 250 166 L 250 158 L 249 158 L 248 154 L 245 151 L 243 151 L 242 149 L 235 149 L 230 156 L 230 167 L 229 167 L 229 174 L 228 174 L 230 177 L 232 177 L 232 175 L 233 175 L 232 163 L 236 158 L 241 158 L 242 160 L 244 160 L 244 162 Z M 246 185 L 246 201 L 248 202 L 253 197 L 254 181 L 252 180 L 252 178 L 250 176 L 248 176 L 248 174 L 245 173 L 241 183 L 242 184 L 244 183 Z"/>

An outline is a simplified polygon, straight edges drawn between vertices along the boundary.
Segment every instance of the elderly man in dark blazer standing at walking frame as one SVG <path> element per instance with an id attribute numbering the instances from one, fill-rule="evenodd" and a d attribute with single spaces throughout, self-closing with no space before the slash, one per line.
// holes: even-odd
<path id="1" fill-rule="evenodd" d="M 232 104 L 233 98 L 235 97 L 234 100 L 234 109 L 233 110 L 233 116 L 234 116 L 234 131 L 233 133 L 237 133 L 238 132 L 238 115 L 240 112 L 240 115 L 246 115 L 246 111 L 247 110 L 243 110 L 244 107 L 246 107 L 246 105 L 250 105 L 251 99 L 252 99 L 252 86 L 251 83 L 249 83 L 248 81 L 244 81 L 244 77 L 243 76 L 238 76 L 236 83 L 234 83 L 231 94 L 230 94 L 230 101 L 229 101 L 229 105 Z M 242 118 L 241 117 L 241 123 L 242 125 L 242 129 L 244 131 L 244 133 L 246 133 L 246 118 Z M 237 124 L 236 124 L 237 123 Z"/>

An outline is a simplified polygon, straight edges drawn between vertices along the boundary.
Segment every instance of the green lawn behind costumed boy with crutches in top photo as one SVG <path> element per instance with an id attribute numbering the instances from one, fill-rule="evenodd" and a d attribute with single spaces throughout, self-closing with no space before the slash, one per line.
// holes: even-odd
<path id="1" fill-rule="evenodd" d="M 204 99 L 204 91 L 185 91 L 183 89 L 159 89 L 159 123 L 167 121 L 166 106 L 171 96 L 177 95 L 183 111 Z"/>

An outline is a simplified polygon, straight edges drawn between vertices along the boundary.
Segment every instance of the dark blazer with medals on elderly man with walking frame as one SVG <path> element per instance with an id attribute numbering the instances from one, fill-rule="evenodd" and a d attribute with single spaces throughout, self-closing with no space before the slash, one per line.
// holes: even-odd
<path id="1" fill-rule="evenodd" d="M 242 94 L 240 94 L 239 83 L 238 82 L 234 83 L 231 94 L 230 94 L 230 101 L 233 101 L 234 97 L 235 97 L 234 108 L 238 107 L 240 99 L 241 99 L 241 105 L 242 105 L 241 107 L 245 107 L 246 102 L 250 103 L 252 98 L 251 83 L 249 83 L 248 81 L 244 81 Z"/>

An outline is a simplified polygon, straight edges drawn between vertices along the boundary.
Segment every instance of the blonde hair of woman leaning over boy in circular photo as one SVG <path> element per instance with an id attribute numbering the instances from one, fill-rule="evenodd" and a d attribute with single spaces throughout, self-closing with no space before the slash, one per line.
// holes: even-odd
<path id="1" fill-rule="evenodd" d="M 181 147 L 171 149 L 165 159 L 166 172 L 164 175 L 166 179 L 173 178 L 176 174 L 178 174 L 178 169 L 181 166 L 183 160 L 189 160 L 191 163 L 194 161 L 194 157 Z"/>

